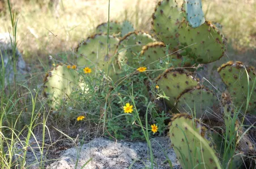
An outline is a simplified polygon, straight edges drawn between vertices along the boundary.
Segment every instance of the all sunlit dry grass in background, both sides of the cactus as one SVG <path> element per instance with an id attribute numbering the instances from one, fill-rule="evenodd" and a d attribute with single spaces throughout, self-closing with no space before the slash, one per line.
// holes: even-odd
<path id="1" fill-rule="evenodd" d="M 50 0 L 48 0 L 50 1 Z M 45 1 L 45 2 L 48 2 Z M 130 20 L 135 29 L 150 30 L 151 15 L 156 0 L 111 0 L 110 19 Z M 223 32 L 234 48 L 247 50 L 256 47 L 256 3 L 253 0 L 204 0 L 206 19 L 223 25 Z M 18 12 L 18 48 L 29 63 L 49 54 L 72 51 L 79 41 L 107 21 L 107 0 L 60 0 L 56 10 L 46 3 L 12 0 Z M 8 13 L 7 13 L 8 14 Z M 10 30 L 9 15 L 0 16 L 0 30 Z"/>

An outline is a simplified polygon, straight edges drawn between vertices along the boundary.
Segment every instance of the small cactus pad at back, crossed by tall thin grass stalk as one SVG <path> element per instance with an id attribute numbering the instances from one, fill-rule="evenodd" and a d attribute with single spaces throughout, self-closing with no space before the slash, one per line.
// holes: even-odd
<path id="1" fill-rule="evenodd" d="M 109 34 L 118 35 L 122 31 L 122 24 L 118 22 L 109 22 Z M 96 33 L 107 33 L 108 32 L 108 22 L 102 23 L 96 27 Z"/>

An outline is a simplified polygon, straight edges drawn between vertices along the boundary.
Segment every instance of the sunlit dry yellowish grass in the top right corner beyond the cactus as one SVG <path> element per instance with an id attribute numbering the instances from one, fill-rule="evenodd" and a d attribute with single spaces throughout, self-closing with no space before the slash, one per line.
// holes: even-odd
<path id="1" fill-rule="evenodd" d="M 206 18 L 223 25 L 223 32 L 236 50 L 256 48 L 256 1 L 204 0 Z M 207 11 L 207 10 L 204 10 Z"/>

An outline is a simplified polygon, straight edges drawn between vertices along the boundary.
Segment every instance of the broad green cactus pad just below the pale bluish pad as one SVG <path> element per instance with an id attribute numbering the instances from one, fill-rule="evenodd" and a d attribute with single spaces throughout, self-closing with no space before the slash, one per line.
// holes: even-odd
<path id="1" fill-rule="evenodd" d="M 225 39 L 222 34 L 206 21 L 198 28 L 191 28 L 186 21 L 179 27 L 181 45 L 189 46 L 189 57 L 197 63 L 206 64 L 219 60 L 225 52 Z"/>

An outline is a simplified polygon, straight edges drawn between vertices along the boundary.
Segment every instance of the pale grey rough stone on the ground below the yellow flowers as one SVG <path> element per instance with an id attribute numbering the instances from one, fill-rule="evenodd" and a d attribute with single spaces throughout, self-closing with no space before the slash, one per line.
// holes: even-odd
<path id="1" fill-rule="evenodd" d="M 157 144 L 157 141 L 162 148 Z M 170 148 L 168 137 L 156 137 L 151 139 L 152 151 L 154 156 L 154 168 L 168 169 L 170 168 L 167 157 L 173 164 L 173 168 L 180 168 L 174 150 Z M 165 157 L 165 153 L 167 157 Z M 129 141 L 113 141 L 109 139 L 98 138 L 90 141 L 82 146 L 63 150 L 58 161 L 50 164 L 46 168 L 75 168 L 76 160 L 78 164 L 76 168 L 113 168 L 125 169 L 129 168 L 150 168 L 150 150 L 146 142 L 129 142 Z M 134 163 L 134 164 L 133 164 Z M 145 166 L 146 164 L 146 166 Z"/>

